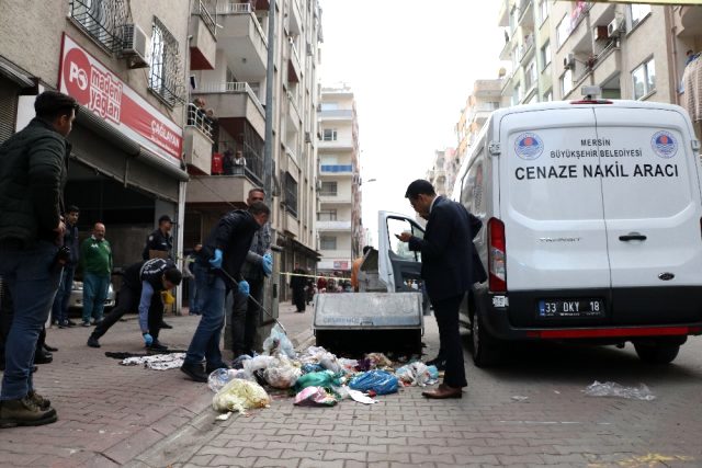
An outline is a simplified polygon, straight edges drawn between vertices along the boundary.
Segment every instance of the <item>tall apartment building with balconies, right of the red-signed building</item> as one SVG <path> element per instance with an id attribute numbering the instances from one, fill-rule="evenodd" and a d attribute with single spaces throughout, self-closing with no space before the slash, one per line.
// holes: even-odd
<path id="1" fill-rule="evenodd" d="M 272 243 L 281 251 L 276 266 L 280 272 L 292 272 L 295 263 L 312 267 L 318 259 L 314 235 L 318 45 L 322 38 L 318 2 L 219 0 L 199 4 L 207 9 L 216 26 L 207 28 L 214 37 L 212 49 L 197 59 L 197 67 L 191 66 L 189 77 L 190 109 L 195 114 L 186 130 L 193 133 L 192 144 L 199 149 L 197 157 L 189 161 L 185 246 L 203 239 L 224 213 L 245 207 L 249 190 L 264 186 L 270 132 Z M 192 23 L 191 35 L 197 44 L 201 35 L 206 37 Z M 271 95 L 267 95 L 269 90 Z M 272 107 L 270 128 L 267 101 Z M 245 164 L 231 161 L 238 151 Z M 288 288 L 281 286 L 280 294 L 287 297 Z"/>

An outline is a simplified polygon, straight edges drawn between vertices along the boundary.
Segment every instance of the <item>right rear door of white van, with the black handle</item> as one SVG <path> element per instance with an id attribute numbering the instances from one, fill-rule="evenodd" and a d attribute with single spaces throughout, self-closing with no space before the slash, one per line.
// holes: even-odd
<path id="1" fill-rule="evenodd" d="M 686 118 L 595 107 L 616 324 L 701 319 L 702 205 Z"/>

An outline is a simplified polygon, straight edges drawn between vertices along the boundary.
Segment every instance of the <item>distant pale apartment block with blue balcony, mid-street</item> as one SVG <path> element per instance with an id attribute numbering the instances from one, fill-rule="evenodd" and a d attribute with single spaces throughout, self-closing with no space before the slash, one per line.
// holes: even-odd
<path id="1" fill-rule="evenodd" d="M 319 210 L 317 233 L 320 273 L 348 276 L 364 242 L 361 225 L 359 122 L 353 90 L 324 87 L 319 112 Z"/>

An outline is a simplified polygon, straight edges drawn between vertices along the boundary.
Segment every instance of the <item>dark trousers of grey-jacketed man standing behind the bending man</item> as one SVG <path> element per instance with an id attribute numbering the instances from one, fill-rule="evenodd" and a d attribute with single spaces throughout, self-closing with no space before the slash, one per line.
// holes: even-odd
<path id="1" fill-rule="evenodd" d="M 249 283 L 249 297 L 262 303 L 263 278 L 247 279 Z M 259 326 L 259 306 L 249 297 L 234 289 L 234 304 L 231 306 L 231 351 L 234 357 L 241 354 L 250 354 L 253 350 L 256 329 Z"/>

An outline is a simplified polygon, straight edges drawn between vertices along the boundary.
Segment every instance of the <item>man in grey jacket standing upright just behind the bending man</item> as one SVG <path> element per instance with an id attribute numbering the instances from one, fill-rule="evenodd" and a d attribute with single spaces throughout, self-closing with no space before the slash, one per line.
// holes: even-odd
<path id="1" fill-rule="evenodd" d="M 263 189 L 251 189 L 246 204 L 251 206 L 256 202 L 263 203 L 264 198 Z M 241 276 L 249 283 L 250 293 L 245 295 L 236 289 L 234 292 L 231 351 L 235 358 L 242 354 L 253 355 L 253 338 L 256 336 L 260 308 L 253 300 L 249 300 L 249 296 L 259 304 L 263 300 L 263 282 L 267 276 L 273 273 L 273 256 L 270 248 L 271 228 L 267 222 L 253 235 L 246 261 L 241 265 Z"/>

